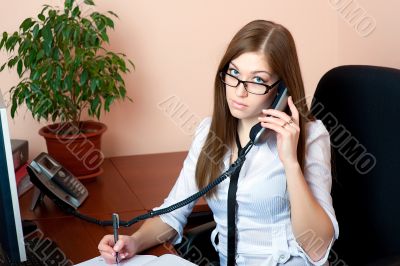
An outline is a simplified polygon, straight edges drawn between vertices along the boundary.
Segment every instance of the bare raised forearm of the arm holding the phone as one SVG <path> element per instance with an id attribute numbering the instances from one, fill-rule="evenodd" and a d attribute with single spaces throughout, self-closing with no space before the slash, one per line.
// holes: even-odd
<path id="1" fill-rule="evenodd" d="M 299 164 L 285 167 L 293 233 L 309 257 L 318 261 L 326 253 L 334 230 L 329 216 L 312 195 Z"/>

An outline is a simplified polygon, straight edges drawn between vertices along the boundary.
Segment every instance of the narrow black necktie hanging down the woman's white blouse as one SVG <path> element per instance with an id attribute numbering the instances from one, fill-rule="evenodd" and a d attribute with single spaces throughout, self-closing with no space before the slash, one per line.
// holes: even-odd
<path id="1" fill-rule="evenodd" d="M 238 158 L 242 155 L 242 146 L 240 145 L 239 136 L 236 133 L 236 145 L 238 148 Z M 243 164 L 233 172 L 229 181 L 228 189 L 228 264 L 227 266 L 236 265 L 236 191 L 239 179 L 240 169 Z"/>

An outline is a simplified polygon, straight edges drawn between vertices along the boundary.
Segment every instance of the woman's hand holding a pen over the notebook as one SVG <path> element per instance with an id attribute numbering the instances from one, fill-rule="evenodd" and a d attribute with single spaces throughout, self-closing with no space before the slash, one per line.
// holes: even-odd
<path id="1" fill-rule="evenodd" d="M 113 235 L 105 235 L 98 245 L 101 256 L 107 264 L 115 264 L 115 256 L 118 252 L 119 260 L 133 257 L 138 249 L 137 241 L 132 236 L 120 235 L 114 244 Z"/>

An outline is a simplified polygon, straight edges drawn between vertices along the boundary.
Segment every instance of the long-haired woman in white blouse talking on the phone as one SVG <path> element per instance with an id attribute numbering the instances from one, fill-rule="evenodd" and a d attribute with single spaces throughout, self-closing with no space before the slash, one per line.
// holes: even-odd
<path id="1" fill-rule="evenodd" d="M 285 112 L 268 109 L 280 82 L 290 95 Z M 250 22 L 230 42 L 215 77 L 213 115 L 197 128 L 161 207 L 194 194 L 228 169 L 258 122 L 270 132 L 266 143 L 247 154 L 239 175 L 233 261 L 232 256 L 227 259 L 232 243 L 227 228 L 229 178 L 206 197 L 217 224 L 212 243 L 220 263 L 324 265 L 338 237 L 330 196 L 329 134 L 309 114 L 294 40 L 279 24 Z M 116 252 L 123 259 L 163 241 L 179 243 L 193 206 L 146 221 L 115 246 L 113 237 L 105 236 L 99 243 L 101 255 L 113 263 Z"/>

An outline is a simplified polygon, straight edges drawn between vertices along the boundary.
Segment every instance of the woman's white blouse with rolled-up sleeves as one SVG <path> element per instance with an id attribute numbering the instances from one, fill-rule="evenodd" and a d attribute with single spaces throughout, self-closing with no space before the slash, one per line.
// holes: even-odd
<path id="1" fill-rule="evenodd" d="M 181 201 L 196 193 L 196 163 L 210 129 L 211 118 L 198 126 L 194 141 L 183 163 L 180 175 L 160 209 Z M 329 250 L 338 238 L 339 227 L 332 207 L 330 195 L 331 151 L 329 133 L 320 120 L 306 124 L 306 158 L 304 177 L 316 200 L 332 221 L 334 238 L 325 254 L 317 262 L 297 244 L 290 221 L 290 201 L 286 186 L 286 175 L 278 156 L 276 135 L 269 134 L 267 141 L 253 146 L 246 156 L 239 175 L 237 189 L 237 258 L 238 265 L 324 265 Z M 229 168 L 231 149 L 225 154 L 225 170 Z M 229 178 L 217 186 L 217 197 L 207 199 L 217 224 L 211 241 L 219 252 L 221 265 L 226 265 L 227 256 L 227 195 Z M 195 202 L 161 215 L 162 221 L 174 228 L 178 234 L 173 243 L 182 241 L 183 228 Z M 215 244 L 218 233 L 219 243 Z M 315 237 L 312 232 L 306 232 Z M 318 239 L 315 239 L 318 243 Z"/>

